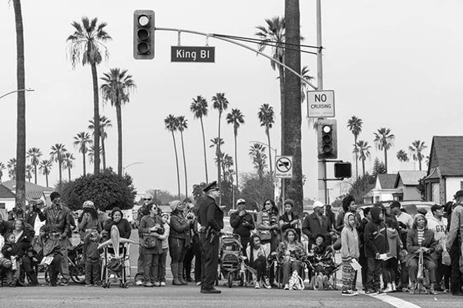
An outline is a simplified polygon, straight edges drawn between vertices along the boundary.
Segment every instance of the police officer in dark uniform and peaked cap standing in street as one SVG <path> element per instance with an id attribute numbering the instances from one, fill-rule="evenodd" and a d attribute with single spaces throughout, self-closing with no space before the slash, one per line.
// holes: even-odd
<path id="1" fill-rule="evenodd" d="M 219 262 L 219 232 L 224 228 L 224 212 L 215 203 L 220 191 L 217 182 L 213 181 L 203 189 L 206 198 L 199 204 L 198 222 L 201 247 L 203 249 L 203 275 L 201 277 L 201 293 L 220 293 L 214 288 Z"/>

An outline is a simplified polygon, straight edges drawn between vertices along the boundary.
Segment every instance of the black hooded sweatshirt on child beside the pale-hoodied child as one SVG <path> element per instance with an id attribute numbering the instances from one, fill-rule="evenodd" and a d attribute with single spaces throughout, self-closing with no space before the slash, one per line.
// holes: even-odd
<path id="1" fill-rule="evenodd" d="M 365 257 L 375 258 L 376 253 L 387 253 L 389 244 L 387 242 L 386 225 L 380 219 L 381 209 L 372 207 L 370 209 L 371 221 L 365 225 Z"/>

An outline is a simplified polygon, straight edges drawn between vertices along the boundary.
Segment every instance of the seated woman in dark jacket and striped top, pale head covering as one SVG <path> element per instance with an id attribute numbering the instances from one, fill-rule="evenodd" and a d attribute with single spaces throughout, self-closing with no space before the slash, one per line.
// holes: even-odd
<path id="1" fill-rule="evenodd" d="M 413 227 L 407 232 L 408 255 L 405 257 L 405 262 L 407 262 L 409 268 L 408 274 L 412 282 L 410 294 L 415 294 L 417 288 L 420 252 L 423 253 L 423 267 L 426 267 L 429 271 L 429 281 L 431 282 L 429 293 L 433 295 L 438 294 L 434 289 L 437 266 L 434 263 L 433 256 L 431 256 L 436 250 L 437 242 L 434 239 L 434 232 L 427 228 L 427 224 L 428 221 L 424 215 L 416 214 L 413 218 Z"/>

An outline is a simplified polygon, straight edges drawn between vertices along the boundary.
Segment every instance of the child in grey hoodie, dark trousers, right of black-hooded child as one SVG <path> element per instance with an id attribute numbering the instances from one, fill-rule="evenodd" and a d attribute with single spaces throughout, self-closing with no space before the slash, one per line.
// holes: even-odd
<path id="1" fill-rule="evenodd" d="M 386 219 L 386 226 L 387 226 L 387 244 L 389 244 L 389 259 L 383 261 L 383 279 L 384 283 L 387 284 L 386 290 L 384 292 L 395 292 L 396 288 L 396 273 L 398 262 L 397 256 L 398 251 L 400 251 L 402 246 L 401 238 L 398 236 L 398 223 L 392 219 Z"/>

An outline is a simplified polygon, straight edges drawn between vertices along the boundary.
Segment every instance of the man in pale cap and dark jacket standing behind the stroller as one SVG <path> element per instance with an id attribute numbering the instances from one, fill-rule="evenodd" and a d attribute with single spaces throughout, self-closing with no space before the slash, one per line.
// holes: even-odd
<path id="1" fill-rule="evenodd" d="M 243 255 L 246 255 L 248 247 L 250 230 L 255 229 L 253 216 L 246 211 L 246 200 L 239 199 L 236 201 L 236 211 L 230 214 L 230 225 L 233 233 L 241 237 L 241 248 Z"/>

